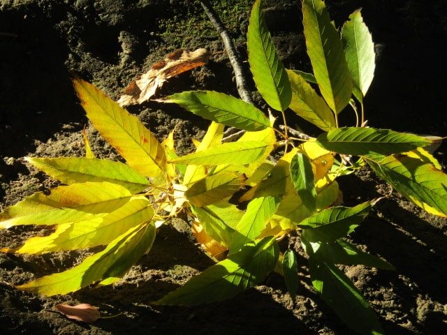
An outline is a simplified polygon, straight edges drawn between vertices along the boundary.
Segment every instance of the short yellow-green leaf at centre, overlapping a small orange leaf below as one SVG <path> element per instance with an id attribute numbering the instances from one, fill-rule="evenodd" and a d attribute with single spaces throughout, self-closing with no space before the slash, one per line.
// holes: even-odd
<path id="1" fill-rule="evenodd" d="M 234 204 L 218 202 L 204 207 L 192 207 L 203 230 L 219 244 L 229 247 L 233 240 L 233 229 L 244 212 Z"/>

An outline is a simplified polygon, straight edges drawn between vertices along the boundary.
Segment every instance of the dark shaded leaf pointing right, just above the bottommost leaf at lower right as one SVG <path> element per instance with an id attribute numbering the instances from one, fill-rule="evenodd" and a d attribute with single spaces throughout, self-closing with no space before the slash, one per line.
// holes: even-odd
<path id="1" fill-rule="evenodd" d="M 315 254 L 319 260 L 332 264 L 365 265 L 378 269 L 395 270 L 393 265 L 369 253 L 361 251 L 353 244 L 339 239 L 318 249 Z"/>

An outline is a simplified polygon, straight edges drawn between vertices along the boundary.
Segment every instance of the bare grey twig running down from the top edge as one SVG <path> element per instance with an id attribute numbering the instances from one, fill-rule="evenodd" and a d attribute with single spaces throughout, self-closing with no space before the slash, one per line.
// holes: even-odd
<path id="1" fill-rule="evenodd" d="M 242 71 L 242 63 L 239 59 L 239 55 L 237 54 L 233 40 L 230 38 L 230 34 L 228 34 L 228 31 L 223 25 L 221 19 L 212 8 L 210 1 L 200 0 L 200 3 L 202 4 L 206 15 L 210 18 L 211 23 L 214 25 L 214 28 L 216 28 L 217 32 L 221 35 L 226 53 L 228 54 L 231 66 L 233 66 L 233 71 L 235 72 L 237 93 L 239 93 L 239 96 L 243 101 L 254 105 L 247 89 L 247 82 L 245 81 L 244 73 Z"/>

